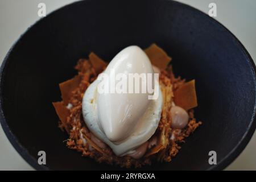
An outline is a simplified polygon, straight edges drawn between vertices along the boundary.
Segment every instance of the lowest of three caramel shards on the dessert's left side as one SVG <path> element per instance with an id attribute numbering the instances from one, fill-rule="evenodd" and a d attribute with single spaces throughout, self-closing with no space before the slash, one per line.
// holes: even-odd
<path id="1" fill-rule="evenodd" d="M 63 102 L 52 102 L 53 107 L 55 108 L 55 111 L 60 118 L 61 123 L 63 123 L 63 126 L 65 127 L 65 130 L 68 132 L 68 125 L 67 125 L 67 117 L 69 116 L 69 110 Z"/>

